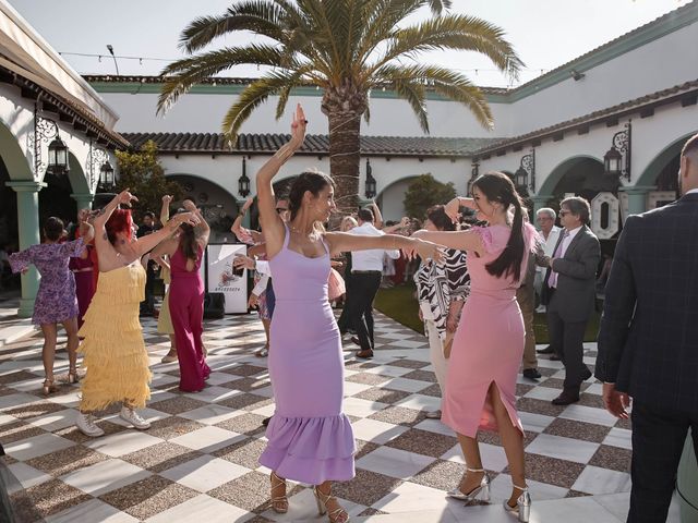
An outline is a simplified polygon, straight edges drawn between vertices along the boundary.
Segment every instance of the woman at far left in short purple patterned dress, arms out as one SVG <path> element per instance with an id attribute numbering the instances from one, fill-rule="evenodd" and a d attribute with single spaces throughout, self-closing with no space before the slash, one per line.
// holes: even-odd
<path id="1" fill-rule="evenodd" d="M 68 335 L 68 380 L 77 381 L 76 349 L 77 349 L 77 299 L 75 296 L 75 278 L 68 268 L 71 257 L 80 256 L 85 242 L 94 235 L 92 226 L 85 221 L 81 223 L 81 238 L 72 242 L 59 243 L 63 234 L 63 222 L 51 217 L 44 226 L 44 243 L 32 245 L 10 256 L 13 272 L 25 271 L 34 264 L 41 275 L 39 290 L 34 301 L 32 323 L 39 325 L 44 332 L 44 393 L 57 390 L 53 385 L 53 360 L 56 357 L 56 339 L 58 325 L 62 324 Z"/>

